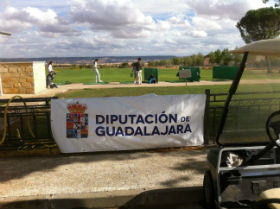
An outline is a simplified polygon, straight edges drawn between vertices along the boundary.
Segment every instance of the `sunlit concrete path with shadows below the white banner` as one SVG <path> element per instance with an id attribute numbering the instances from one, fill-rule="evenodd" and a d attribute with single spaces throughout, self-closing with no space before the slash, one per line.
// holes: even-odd
<path id="1" fill-rule="evenodd" d="M 158 190 L 183 191 L 189 193 L 185 200 L 200 200 L 195 188 L 202 186 L 206 152 L 185 148 L 1 158 L 0 208 L 119 207 Z"/>

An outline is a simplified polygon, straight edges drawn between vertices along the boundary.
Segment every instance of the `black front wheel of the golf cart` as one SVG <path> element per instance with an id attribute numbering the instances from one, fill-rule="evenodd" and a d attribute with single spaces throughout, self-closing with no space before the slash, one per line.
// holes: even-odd
<path id="1" fill-rule="evenodd" d="M 215 209 L 214 186 L 209 170 L 205 171 L 203 179 L 204 203 L 207 209 Z"/>

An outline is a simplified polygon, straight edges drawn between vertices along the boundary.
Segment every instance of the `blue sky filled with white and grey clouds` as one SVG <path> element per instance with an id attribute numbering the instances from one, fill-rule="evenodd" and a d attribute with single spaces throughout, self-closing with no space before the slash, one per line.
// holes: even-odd
<path id="1" fill-rule="evenodd" d="M 0 58 L 204 55 L 262 0 L 1 0 Z"/>

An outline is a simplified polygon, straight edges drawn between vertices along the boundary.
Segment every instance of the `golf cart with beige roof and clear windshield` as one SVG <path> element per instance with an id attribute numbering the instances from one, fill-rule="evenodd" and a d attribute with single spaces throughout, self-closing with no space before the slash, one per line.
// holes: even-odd
<path id="1" fill-rule="evenodd" d="M 280 208 L 280 70 L 244 71 L 246 61 L 267 64 L 268 56 L 279 65 L 280 39 L 257 41 L 232 53 L 242 53 L 243 59 L 221 114 L 218 147 L 207 156 L 205 204 L 208 209 Z"/>

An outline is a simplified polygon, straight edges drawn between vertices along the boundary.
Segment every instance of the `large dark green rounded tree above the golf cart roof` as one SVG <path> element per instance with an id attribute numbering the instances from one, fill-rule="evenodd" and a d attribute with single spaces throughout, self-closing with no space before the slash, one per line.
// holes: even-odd
<path id="1" fill-rule="evenodd" d="M 280 34 L 280 9 L 267 7 L 249 10 L 236 27 L 245 43 L 275 38 Z"/>

